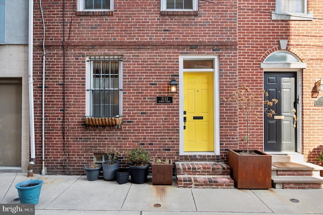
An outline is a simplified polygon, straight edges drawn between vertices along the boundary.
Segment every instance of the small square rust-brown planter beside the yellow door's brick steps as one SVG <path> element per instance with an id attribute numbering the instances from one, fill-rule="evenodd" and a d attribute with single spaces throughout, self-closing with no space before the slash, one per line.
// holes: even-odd
<path id="1" fill-rule="evenodd" d="M 173 184 L 173 162 L 169 159 L 156 159 L 151 164 L 153 185 Z"/>

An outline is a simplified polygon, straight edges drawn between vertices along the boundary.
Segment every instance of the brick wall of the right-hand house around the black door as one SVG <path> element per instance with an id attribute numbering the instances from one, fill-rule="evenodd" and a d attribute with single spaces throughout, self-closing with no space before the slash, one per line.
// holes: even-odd
<path id="1" fill-rule="evenodd" d="M 323 4 L 319 0 L 307 1 L 308 11 L 312 11 L 312 21 L 271 20 L 271 12 L 275 11 L 275 0 L 259 1 L 240 0 L 239 7 L 248 10 L 239 10 L 239 83 L 248 83 L 261 88 L 262 69 L 259 65 L 265 57 L 275 50 L 279 50 L 279 39 L 288 39 L 287 49 L 307 64 L 302 74 L 302 144 L 304 159 L 317 163 L 317 155 L 322 150 L 321 136 L 323 133 L 323 108 L 314 106 L 314 100 L 323 96 L 320 92 L 317 97 L 312 92 L 315 80 L 323 76 L 322 35 L 319 26 L 322 25 Z M 255 11 L 256 10 L 256 11 Z M 261 12 L 257 12 L 261 11 Z M 264 12 L 264 13 L 263 13 Z M 240 121 L 241 122 L 241 121 Z M 241 122 L 242 123 L 242 122 Z M 262 122 L 259 122 L 261 127 Z M 262 147 L 262 132 L 253 133 L 253 142 Z M 239 139 L 242 139 L 240 133 Z"/>

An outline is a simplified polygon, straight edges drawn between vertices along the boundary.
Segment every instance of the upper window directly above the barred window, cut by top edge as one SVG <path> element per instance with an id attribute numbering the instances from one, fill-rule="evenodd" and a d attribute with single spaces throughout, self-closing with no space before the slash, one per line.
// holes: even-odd
<path id="1" fill-rule="evenodd" d="M 78 11 L 113 11 L 114 0 L 78 0 Z"/>

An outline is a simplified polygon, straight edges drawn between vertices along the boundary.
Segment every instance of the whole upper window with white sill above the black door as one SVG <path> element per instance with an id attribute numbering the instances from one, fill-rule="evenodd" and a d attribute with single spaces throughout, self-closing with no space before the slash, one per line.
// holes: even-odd
<path id="1" fill-rule="evenodd" d="M 307 0 L 276 0 L 276 11 L 272 19 L 311 20 L 312 13 L 307 13 Z"/>

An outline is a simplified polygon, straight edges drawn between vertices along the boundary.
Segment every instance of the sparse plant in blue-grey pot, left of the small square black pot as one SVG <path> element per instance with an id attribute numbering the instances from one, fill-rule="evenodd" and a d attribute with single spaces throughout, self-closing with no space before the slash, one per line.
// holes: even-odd
<path id="1" fill-rule="evenodd" d="M 105 148 L 105 153 L 107 160 L 102 163 L 103 179 L 106 181 L 114 181 L 116 180 L 115 170 L 119 169 L 119 150 L 112 146 Z"/>

